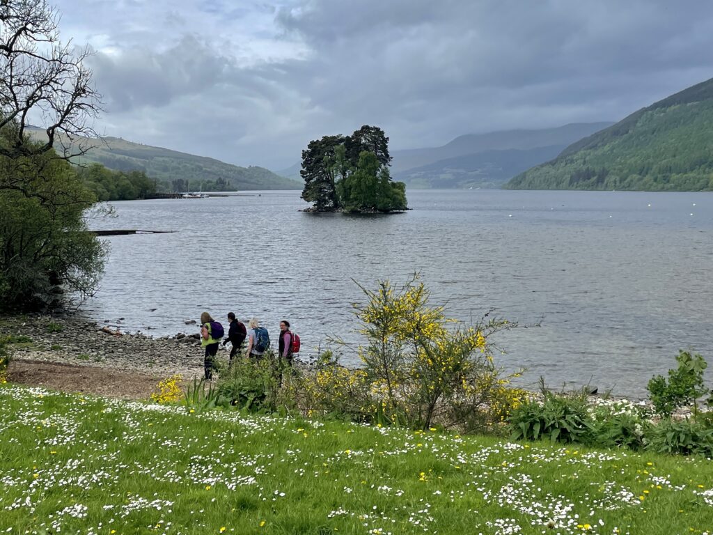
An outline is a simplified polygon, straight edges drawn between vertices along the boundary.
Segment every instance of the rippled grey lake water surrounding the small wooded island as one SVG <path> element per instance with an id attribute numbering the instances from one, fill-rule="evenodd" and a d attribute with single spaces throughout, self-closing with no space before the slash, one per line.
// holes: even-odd
<path id="1" fill-rule="evenodd" d="M 195 332 L 209 311 L 277 338 L 287 319 L 316 353 L 358 341 L 351 303 L 420 272 L 450 317 L 496 315 L 498 362 L 520 384 L 593 384 L 643 397 L 648 379 L 694 348 L 713 365 L 713 194 L 409 190 L 407 213 L 302 213 L 297 191 L 113 203 L 91 228 L 171 230 L 108 238 L 86 315 L 153 336 Z M 123 319 L 120 319 L 123 318 Z M 200 355 L 197 355 L 197 359 Z M 345 363 L 356 362 L 346 355 Z M 710 375 L 710 372 L 709 372 Z"/>

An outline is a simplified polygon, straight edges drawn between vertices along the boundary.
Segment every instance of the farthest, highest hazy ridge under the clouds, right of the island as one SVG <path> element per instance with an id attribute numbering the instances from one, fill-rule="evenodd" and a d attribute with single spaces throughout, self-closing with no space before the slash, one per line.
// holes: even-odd
<path id="1" fill-rule="evenodd" d="M 557 128 L 539 130 L 504 130 L 482 134 L 458 136 L 442 147 L 412 148 L 405 151 L 393 151 L 391 163 L 393 173 L 422 167 L 439 160 L 481 153 L 483 151 L 506 151 L 515 149 L 527 151 L 531 148 L 554 145 L 568 146 L 612 123 L 570 123 Z"/>

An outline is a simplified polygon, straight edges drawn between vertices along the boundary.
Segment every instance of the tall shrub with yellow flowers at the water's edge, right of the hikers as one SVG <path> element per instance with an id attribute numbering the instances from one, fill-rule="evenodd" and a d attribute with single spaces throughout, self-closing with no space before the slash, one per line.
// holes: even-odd
<path id="1" fill-rule="evenodd" d="M 364 367 L 359 381 L 368 385 L 369 402 L 349 395 L 360 410 L 376 411 L 385 422 L 428 429 L 485 430 L 500 424 L 520 394 L 508 387 L 493 362 L 493 333 L 515 327 L 488 315 L 473 327 L 457 325 L 443 307 L 429 305 L 430 292 L 414 275 L 401 287 L 388 280 L 376 290 L 359 285 L 366 304 L 354 305 Z M 339 371 L 339 391 L 350 374 Z M 346 392 L 346 391 L 345 391 Z M 356 411 L 356 407 L 353 407 Z"/>

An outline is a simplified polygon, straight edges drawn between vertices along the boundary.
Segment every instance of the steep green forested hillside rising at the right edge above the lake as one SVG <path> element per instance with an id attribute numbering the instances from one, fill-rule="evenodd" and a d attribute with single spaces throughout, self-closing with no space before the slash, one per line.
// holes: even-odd
<path id="1" fill-rule="evenodd" d="M 713 78 L 573 143 L 506 188 L 713 190 Z"/>

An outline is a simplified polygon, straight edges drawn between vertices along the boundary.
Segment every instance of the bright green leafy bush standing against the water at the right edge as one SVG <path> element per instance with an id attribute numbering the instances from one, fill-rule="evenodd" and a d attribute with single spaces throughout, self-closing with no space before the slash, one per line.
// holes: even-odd
<path id="1" fill-rule="evenodd" d="M 668 371 L 668 380 L 657 375 L 647 385 L 656 412 L 663 416 L 670 416 L 679 407 L 694 404 L 709 392 L 703 384 L 703 372 L 708 365 L 701 355 L 681 350 L 676 360 L 678 367 Z"/>

